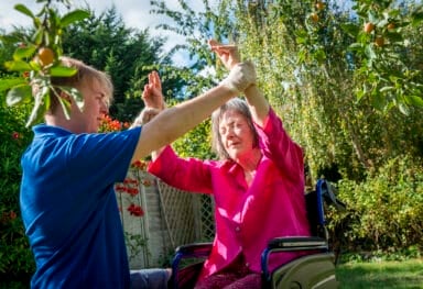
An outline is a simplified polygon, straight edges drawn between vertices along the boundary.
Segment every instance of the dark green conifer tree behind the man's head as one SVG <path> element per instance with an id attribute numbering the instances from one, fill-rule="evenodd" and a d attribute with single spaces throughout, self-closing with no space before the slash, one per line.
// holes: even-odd
<path id="1" fill-rule="evenodd" d="M 152 38 L 148 30 L 127 27 L 115 7 L 98 16 L 91 11 L 90 18 L 72 25 L 63 37 L 65 54 L 110 75 L 115 86 L 110 114 L 132 121 L 143 108 L 141 92 L 148 73 L 161 62 L 169 63 L 160 58 L 164 38 Z"/>

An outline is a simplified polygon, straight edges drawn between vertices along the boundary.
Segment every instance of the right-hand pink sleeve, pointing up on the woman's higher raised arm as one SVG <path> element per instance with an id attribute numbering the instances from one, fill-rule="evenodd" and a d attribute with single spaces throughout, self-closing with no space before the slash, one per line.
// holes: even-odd
<path id="1" fill-rule="evenodd" d="M 254 125 L 259 134 L 260 147 L 270 159 L 274 160 L 279 169 L 285 176 L 295 179 L 299 174 L 303 175 L 302 148 L 288 135 L 273 109 L 269 110 L 263 127 Z"/>

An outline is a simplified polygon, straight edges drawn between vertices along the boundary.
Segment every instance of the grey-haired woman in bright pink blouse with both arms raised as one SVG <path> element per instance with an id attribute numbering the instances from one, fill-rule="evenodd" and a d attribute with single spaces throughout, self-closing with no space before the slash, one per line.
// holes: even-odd
<path id="1" fill-rule="evenodd" d="M 228 69 L 239 63 L 236 46 L 209 44 Z M 196 288 L 261 288 L 260 256 L 268 242 L 310 235 L 302 149 L 257 86 L 245 95 L 247 101 L 232 99 L 212 115 L 219 160 L 183 159 L 166 146 L 149 166 L 173 187 L 214 196 L 216 235 Z M 158 75 L 144 89 L 148 108 L 153 97 L 163 99 Z M 270 269 L 299 254 L 273 254 Z"/>

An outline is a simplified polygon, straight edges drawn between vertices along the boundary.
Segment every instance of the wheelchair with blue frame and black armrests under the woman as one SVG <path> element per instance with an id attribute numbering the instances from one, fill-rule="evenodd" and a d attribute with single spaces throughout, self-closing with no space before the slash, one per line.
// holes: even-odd
<path id="1" fill-rule="evenodd" d="M 315 189 L 305 193 L 311 236 L 276 237 L 268 243 L 261 254 L 263 288 L 271 289 L 332 289 L 339 284 L 335 276 L 335 256 L 329 249 L 325 220 L 325 205 L 345 210 L 325 179 L 318 179 Z M 288 264 L 269 270 L 268 260 L 276 252 L 310 252 Z M 178 246 L 172 260 L 173 275 L 170 288 L 194 288 L 204 259 L 212 252 L 212 243 L 194 243 Z"/>

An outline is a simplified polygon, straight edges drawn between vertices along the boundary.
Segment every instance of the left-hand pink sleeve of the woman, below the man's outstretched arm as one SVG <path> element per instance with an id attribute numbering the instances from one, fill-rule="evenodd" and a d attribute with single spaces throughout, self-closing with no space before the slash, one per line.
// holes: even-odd
<path id="1" fill-rule="evenodd" d="M 196 158 L 181 158 L 171 146 L 151 162 L 148 171 L 167 185 L 192 192 L 212 193 L 212 166 Z"/>

